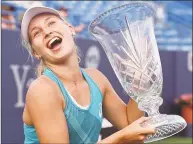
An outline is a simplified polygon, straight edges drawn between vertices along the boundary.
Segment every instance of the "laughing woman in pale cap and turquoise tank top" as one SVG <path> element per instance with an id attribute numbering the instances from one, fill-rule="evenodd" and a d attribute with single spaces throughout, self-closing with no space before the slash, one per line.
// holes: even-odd
<path id="1" fill-rule="evenodd" d="M 143 143 L 155 133 L 141 127 L 148 118 L 133 100 L 125 105 L 101 72 L 80 68 L 75 31 L 56 10 L 28 9 L 21 34 L 31 56 L 40 60 L 26 94 L 24 143 L 97 143 L 103 116 L 120 131 L 99 143 Z"/>

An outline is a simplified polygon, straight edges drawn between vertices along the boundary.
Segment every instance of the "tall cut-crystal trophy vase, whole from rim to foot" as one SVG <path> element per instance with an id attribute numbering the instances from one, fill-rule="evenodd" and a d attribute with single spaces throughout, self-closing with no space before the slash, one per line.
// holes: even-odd
<path id="1" fill-rule="evenodd" d="M 153 126 L 156 133 L 148 135 L 145 143 L 170 137 L 187 125 L 178 115 L 159 113 L 163 77 L 153 15 L 150 5 L 134 2 L 102 13 L 89 25 L 124 90 L 152 117 L 142 126 Z"/>

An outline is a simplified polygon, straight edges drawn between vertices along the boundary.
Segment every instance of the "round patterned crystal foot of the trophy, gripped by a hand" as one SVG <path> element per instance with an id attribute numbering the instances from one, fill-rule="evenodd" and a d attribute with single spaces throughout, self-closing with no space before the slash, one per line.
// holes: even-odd
<path id="1" fill-rule="evenodd" d="M 156 133 L 148 135 L 144 143 L 154 142 L 170 137 L 182 131 L 186 125 L 186 121 L 178 115 L 158 114 L 152 116 L 151 119 L 142 123 L 142 126 L 153 126 L 156 129 Z"/>

